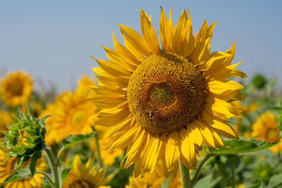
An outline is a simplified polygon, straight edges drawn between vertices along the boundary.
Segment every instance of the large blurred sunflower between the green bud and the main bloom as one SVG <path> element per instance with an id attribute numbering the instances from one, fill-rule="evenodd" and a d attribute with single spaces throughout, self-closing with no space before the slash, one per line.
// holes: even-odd
<path id="1" fill-rule="evenodd" d="M 91 84 L 93 81 L 88 80 Z M 59 143 L 70 134 L 85 134 L 92 132 L 97 108 L 86 99 L 93 97 L 94 92 L 87 88 L 85 77 L 78 83 L 75 92 L 63 92 L 57 96 L 54 104 L 48 104 L 42 115 L 51 115 L 46 119 L 47 144 Z"/>

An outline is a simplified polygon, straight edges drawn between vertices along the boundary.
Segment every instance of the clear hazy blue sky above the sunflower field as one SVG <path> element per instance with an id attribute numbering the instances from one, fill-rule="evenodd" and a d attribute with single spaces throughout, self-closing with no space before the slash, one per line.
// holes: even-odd
<path id="1" fill-rule="evenodd" d="M 0 0 L 0 76 L 22 69 L 35 82 L 73 89 L 80 75 L 93 74 L 90 56 L 106 58 L 100 44 L 112 48 L 112 32 L 123 43 L 117 23 L 140 32 L 142 8 L 158 30 L 159 6 L 167 16 L 173 8 L 173 23 L 189 8 L 193 32 L 204 19 L 216 20 L 212 51 L 226 51 L 235 40 L 233 63 L 245 60 L 240 70 L 278 76 L 281 84 L 282 1 Z"/>

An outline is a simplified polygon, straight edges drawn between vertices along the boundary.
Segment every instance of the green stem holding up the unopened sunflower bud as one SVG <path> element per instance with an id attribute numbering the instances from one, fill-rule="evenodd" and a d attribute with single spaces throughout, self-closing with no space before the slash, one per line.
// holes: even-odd
<path id="1" fill-rule="evenodd" d="M 60 182 L 59 182 L 59 174 L 58 174 L 58 168 L 56 166 L 56 162 L 54 159 L 54 156 L 51 152 L 51 149 L 49 148 L 49 146 L 47 146 L 46 144 L 43 147 L 44 153 L 47 156 L 50 168 L 51 168 L 51 173 L 54 177 L 54 187 L 55 188 L 60 188 Z"/>

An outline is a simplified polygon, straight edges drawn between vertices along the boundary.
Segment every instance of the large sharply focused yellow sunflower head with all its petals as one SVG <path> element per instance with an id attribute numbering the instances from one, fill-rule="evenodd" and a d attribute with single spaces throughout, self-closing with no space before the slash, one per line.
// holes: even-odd
<path id="1" fill-rule="evenodd" d="M 189 16 L 188 16 L 189 15 Z M 219 134 L 237 138 L 221 118 L 240 111 L 228 103 L 243 99 L 241 84 L 228 77 L 246 77 L 231 64 L 235 44 L 225 52 L 210 54 L 215 23 L 204 21 L 192 35 L 190 14 L 181 13 L 174 26 L 161 8 L 159 38 L 147 14 L 140 10 L 142 36 L 118 24 L 124 44 L 114 37 L 114 49 L 102 46 L 110 61 L 94 58 L 99 86 L 91 99 L 99 112 L 97 125 L 111 127 L 106 148 L 128 148 L 125 168 L 135 163 L 135 177 L 152 173 L 160 159 L 166 176 L 178 172 L 178 160 L 197 165 L 195 146 L 223 146 Z M 217 134 L 219 133 L 219 134 Z M 121 163 L 121 165 L 123 165 Z"/>

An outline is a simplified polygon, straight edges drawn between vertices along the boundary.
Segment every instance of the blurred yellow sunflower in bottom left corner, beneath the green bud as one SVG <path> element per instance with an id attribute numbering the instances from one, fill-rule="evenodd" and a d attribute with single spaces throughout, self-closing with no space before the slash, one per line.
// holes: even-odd
<path id="1" fill-rule="evenodd" d="M 17 158 L 11 157 L 6 161 L 6 152 L 0 149 L 0 182 L 3 182 L 6 177 L 11 175 L 13 168 L 15 167 L 17 163 Z M 24 165 L 27 165 L 30 163 L 30 161 L 26 162 Z M 37 161 L 36 164 L 36 169 L 37 170 L 47 170 L 47 164 L 44 162 L 42 158 L 40 158 Z M 9 182 L 4 185 L 5 188 L 10 188 L 10 187 L 18 187 L 18 188 L 31 188 L 31 187 L 42 187 L 42 178 L 44 175 L 35 173 L 35 175 L 32 177 L 28 177 L 26 180 L 18 180 L 16 182 Z"/>

